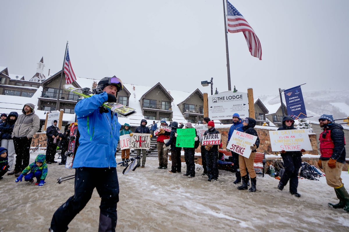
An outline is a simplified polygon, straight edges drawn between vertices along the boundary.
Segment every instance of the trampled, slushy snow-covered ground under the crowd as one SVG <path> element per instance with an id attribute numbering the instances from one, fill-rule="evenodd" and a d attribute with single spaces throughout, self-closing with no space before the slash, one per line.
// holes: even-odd
<path id="1" fill-rule="evenodd" d="M 31 154 L 30 162 L 38 153 Z M 135 172 L 123 175 L 123 168 L 117 168 L 117 231 L 349 231 L 349 213 L 327 206 L 337 199 L 325 177 L 300 179 L 302 196 L 297 198 L 289 194 L 288 185 L 278 190 L 278 180 L 268 175 L 257 175 L 257 192 L 250 193 L 237 189 L 230 172 L 220 171 L 217 182 L 208 182 L 201 177 L 201 165 L 192 179 L 183 176 L 185 163 L 180 174 L 157 167 L 157 158 L 147 157 L 146 167 Z M 58 184 L 56 179 L 73 174 L 74 169 L 51 164 L 43 187 L 15 183 L 14 176 L 5 174 L 0 180 L 0 231 L 47 231 L 54 211 L 74 194 L 73 180 Z M 342 172 L 342 178 L 349 186 L 349 174 Z M 94 191 L 69 231 L 98 231 L 99 203 Z"/>

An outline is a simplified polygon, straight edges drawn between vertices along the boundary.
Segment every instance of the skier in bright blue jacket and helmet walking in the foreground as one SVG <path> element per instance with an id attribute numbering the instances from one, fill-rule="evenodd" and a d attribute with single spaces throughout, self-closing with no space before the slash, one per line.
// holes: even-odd
<path id="1" fill-rule="evenodd" d="M 50 231 L 67 231 L 68 224 L 87 204 L 94 188 L 101 197 L 98 231 L 115 231 L 119 182 L 114 153 L 121 124 L 117 114 L 104 108 L 104 102 L 116 102 L 123 88 L 117 77 L 98 82 L 97 94 L 82 99 L 75 106 L 79 122 L 80 146 L 73 162 L 75 168 L 74 196 L 54 213 Z"/>

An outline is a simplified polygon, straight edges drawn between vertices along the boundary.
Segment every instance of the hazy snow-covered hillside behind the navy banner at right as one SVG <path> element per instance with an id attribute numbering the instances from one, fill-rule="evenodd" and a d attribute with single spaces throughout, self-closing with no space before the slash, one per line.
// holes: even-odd
<path id="1" fill-rule="evenodd" d="M 319 117 L 322 114 L 331 114 L 334 119 L 349 116 L 349 90 L 303 90 L 302 93 L 308 116 Z M 280 95 L 277 93 L 259 96 L 259 99 L 263 104 L 280 104 Z M 283 93 L 282 99 L 285 103 Z"/>

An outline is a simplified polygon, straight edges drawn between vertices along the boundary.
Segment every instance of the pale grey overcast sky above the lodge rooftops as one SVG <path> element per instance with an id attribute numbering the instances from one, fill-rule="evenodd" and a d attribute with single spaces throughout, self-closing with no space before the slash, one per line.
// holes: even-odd
<path id="1" fill-rule="evenodd" d="M 259 37 L 262 60 L 242 32 L 229 33 L 231 85 L 254 97 L 300 84 L 347 89 L 349 1 L 231 0 Z M 66 42 L 78 77 L 192 92 L 213 77 L 228 90 L 222 0 L 2 1 L 0 66 L 28 80 L 62 68 Z"/>

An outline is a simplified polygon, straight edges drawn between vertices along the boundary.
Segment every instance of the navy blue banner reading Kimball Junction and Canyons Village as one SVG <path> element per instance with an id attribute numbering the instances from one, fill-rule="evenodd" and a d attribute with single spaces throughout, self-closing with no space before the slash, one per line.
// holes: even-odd
<path id="1" fill-rule="evenodd" d="M 284 90 L 287 115 L 293 119 L 306 118 L 305 105 L 300 86 Z"/>

